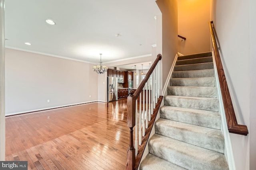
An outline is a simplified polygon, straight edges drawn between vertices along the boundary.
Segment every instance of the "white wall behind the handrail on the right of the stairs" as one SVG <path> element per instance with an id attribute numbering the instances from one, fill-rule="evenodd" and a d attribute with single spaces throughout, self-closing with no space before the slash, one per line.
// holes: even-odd
<path id="1" fill-rule="evenodd" d="M 215 0 L 212 2 L 212 18 L 220 42 L 220 55 L 236 118 L 238 124 L 247 125 L 249 130 L 248 136 L 230 133 L 236 169 L 249 170 L 251 149 L 249 142 L 251 137 L 255 139 L 250 125 L 250 103 L 255 105 L 255 96 L 250 95 L 250 85 L 252 86 L 250 78 L 253 74 L 251 71 L 255 73 L 255 68 L 250 68 L 250 66 L 255 67 L 255 59 L 252 59 L 252 54 L 250 54 L 250 45 L 255 47 L 255 41 L 254 44 L 250 44 L 250 39 L 253 38 L 250 36 L 250 3 L 248 0 Z M 255 20 L 253 23 L 255 24 Z M 251 124 L 252 121 L 251 119 Z M 255 124 L 255 119 L 253 123 Z"/>

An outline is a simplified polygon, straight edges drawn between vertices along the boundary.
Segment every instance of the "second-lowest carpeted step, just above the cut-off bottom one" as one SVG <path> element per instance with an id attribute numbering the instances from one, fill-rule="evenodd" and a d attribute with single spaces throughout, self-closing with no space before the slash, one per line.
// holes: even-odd
<path id="1" fill-rule="evenodd" d="M 224 154 L 158 134 L 149 139 L 149 152 L 189 170 L 228 170 Z"/>

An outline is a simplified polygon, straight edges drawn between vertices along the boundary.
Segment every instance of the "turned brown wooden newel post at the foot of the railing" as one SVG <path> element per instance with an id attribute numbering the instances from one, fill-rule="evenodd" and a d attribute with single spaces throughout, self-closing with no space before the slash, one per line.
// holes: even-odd
<path id="1" fill-rule="evenodd" d="M 133 145 L 133 127 L 135 126 L 135 109 L 136 109 L 136 98 L 133 96 L 134 90 L 129 91 L 127 98 L 127 125 L 130 128 L 130 139 L 129 148 L 127 150 L 127 164 L 126 170 L 134 170 L 135 165 L 135 149 Z"/>

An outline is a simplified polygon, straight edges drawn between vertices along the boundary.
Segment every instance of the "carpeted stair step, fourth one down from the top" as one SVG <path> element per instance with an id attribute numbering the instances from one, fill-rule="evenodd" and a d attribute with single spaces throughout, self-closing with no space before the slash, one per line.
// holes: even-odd
<path id="1" fill-rule="evenodd" d="M 197 78 L 197 77 L 214 77 L 214 69 L 172 72 L 172 78 Z"/>

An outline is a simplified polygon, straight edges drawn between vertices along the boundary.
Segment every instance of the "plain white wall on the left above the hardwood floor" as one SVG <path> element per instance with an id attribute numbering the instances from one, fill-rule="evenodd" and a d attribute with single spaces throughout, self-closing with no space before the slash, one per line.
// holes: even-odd
<path id="1" fill-rule="evenodd" d="M 5 54 L 7 115 L 98 100 L 93 64 L 8 48 Z"/>

